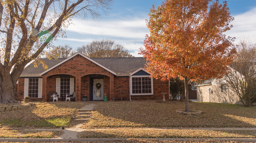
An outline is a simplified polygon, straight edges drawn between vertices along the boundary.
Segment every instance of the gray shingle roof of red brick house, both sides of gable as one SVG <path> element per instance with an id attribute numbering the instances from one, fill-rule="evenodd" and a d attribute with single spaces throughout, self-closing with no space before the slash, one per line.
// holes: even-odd
<path id="1" fill-rule="evenodd" d="M 53 67 L 54 65 L 60 63 L 61 61 L 65 60 L 66 58 L 58 58 L 55 59 L 47 59 L 42 58 L 45 64 L 48 66 L 48 69 Z M 98 62 L 99 64 L 103 65 L 104 67 L 120 74 L 129 74 L 138 70 L 139 68 L 144 68 L 146 64 L 146 58 L 143 57 L 117 57 L 117 58 L 91 58 L 94 61 Z M 38 75 L 46 71 L 42 64 L 38 65 L 37 68 L 34 67 L 34 64 L 31 63 L 27 66 L 21 75 Z"/>

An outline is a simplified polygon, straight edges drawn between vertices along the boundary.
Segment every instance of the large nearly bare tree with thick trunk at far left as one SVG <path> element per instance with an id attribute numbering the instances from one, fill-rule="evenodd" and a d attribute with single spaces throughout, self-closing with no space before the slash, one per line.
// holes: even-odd
<path id="1" fill-rule="evenodd" d="M 32 60 L 64 36 L 74 16 L 102 18 L 113 0 L 0 0 L 0 103 L 16 103 L 15 84 Z M 41 61 L 43 64 L 43 61 Z M 43 64 L 44 65 L 44 64 Z M 46 65 L 44 65 L 47 68 Z"/>

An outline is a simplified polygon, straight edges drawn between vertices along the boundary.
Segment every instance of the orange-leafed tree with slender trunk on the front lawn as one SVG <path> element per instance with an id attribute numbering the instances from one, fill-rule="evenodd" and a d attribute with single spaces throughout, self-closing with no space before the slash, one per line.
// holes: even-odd
<path id="1" fill-rule="evenodd" d="M 165 0 L 150 9 L 140 54 L 147 58 L 146 70 L 152 77 L 167 80 L 180 77 L 185 84 L 185 111 L 189 112 L 189 81 L 220 78 L 228 70 L 235 49 L 230 30 L 227 2 L 212 0 Z"/>

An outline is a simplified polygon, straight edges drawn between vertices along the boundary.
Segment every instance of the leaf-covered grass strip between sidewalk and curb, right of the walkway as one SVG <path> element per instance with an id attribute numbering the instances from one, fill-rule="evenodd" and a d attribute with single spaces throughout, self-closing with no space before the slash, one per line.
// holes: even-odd
<path id="1" fill-rule="evenodd" d="M 78 138 L 255 138 L 254 130 L 104 129 L 78 133 Z"/>

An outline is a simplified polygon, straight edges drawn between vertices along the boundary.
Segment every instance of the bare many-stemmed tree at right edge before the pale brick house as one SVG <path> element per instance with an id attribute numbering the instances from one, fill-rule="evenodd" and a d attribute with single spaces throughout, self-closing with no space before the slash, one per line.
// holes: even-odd
<path id="1" fill-rule="evenodd" d="M 236 45 L 238 55 L 230 65 L 230 70 L 218 84 L 226 84 L 249 107 L 256 98 L 256 44 L 242 40 Z"/>

